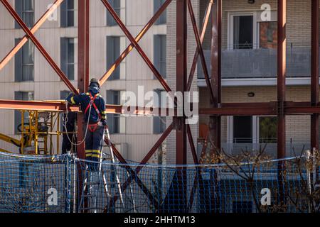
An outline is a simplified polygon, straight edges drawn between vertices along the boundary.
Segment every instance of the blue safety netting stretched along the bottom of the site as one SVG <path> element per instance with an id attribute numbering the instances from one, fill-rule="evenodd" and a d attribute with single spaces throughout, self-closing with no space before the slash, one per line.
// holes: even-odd
<path id="1" fill-rule="evenodd" d="M 0 153 L 0 212 L 257 213 L 319 209 L 305 157 L 232 165 L 87 162 Z M 282 202 L 281 202 L 282 201 Z"/>

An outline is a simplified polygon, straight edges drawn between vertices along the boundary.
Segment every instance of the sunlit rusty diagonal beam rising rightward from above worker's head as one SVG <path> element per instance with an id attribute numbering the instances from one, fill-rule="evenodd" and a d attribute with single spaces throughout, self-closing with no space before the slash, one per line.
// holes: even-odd
<path id="1" fill-rule="evenodd" d="M 142 39 L 144 34 L 146 34 L 146 32 L 149 31 L 149 28 L 151 28 L 151 26 L 154 25 L 156 20 L 159 18 L 159 16 L 161 16 L 161 13 L 163 13 L 166 10 L 167 6 L 169 6 L 171 1 L 172 0 L 166 0 L 164 4 L 159 8 L 159 10 L 156 11 L 154 16 L 152 16 L 150 21 L 146 23 L 144 28 L 142 28 L 142 31 L 140 31 L 140 33 L 134 39 L 136 40 L 137 43 L 139 43 L 139 41 Z M 124 58 L 127 57 L 127 55 L 129 55 L 129 52 L 131 52 L 133 49 L 134 49 L 134 45 L 130 43 L 130 45 L 117 58 L 117 60 L 115 60 L 114 64 L 111 65 L 110 68 L 107 70 L 107 72 L 105 72 L 105 74 L 103 74 L 103 76 L 100 78 L 100 86 L 102 86 L 102 84 L 104 84 L 107 81 L 107 79 L 111 76 L 112 72 L 114 72 L 114 70 L 120 65 L 120 63 L 124 60 Z"/>

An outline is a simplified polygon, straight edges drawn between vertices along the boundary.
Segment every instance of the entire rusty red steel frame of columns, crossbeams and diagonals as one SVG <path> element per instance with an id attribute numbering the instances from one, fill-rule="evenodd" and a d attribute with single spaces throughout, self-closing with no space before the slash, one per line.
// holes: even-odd
<path id="1" fill-rule="evenodd" d="M 34 33 L 41 27 L 46 21 L 48 16 L 62 3 L 63 0 L 55 0 L 52 6 L 41 16 L 41 18 L 35 23 L 33 28 L 29 29 L 25 23 L 23 23 L 18 13 L 14 11 L 7 0 L 0 0 L 4 7 L 9 11 L 14 20 L 21 26 L 26 35 L 20 40 L 20 42 L 4 57 L 0 62 L 0 70 L 14 57 L 16 52 L 20 50 L 23 44 L 27 40 L 31 40 L 36 48 L 41 52 L 43 57 L 46 58 L 49 65 L 53 67 L 53 70 L 63 80 L 67 87 L 75 94 L 79 92 L 85 92 L 87 85 L 89 84 L 89 33 L 90 33 L 90 4 L 89 0 L 78 0 L 78 89 L 73 87 L 68 78 L 63 74 L 55 61 L 50 57 L 48 52 L 43 48 L 41 43 L 34 36 Z M 144 34 L 151 28 L 157 18 L 164 12 L 164 10 L 171 4 L 173 0 L 166 0 L 160 9 L 152 16 L 150 21 L 146 23 L 146 26 L 140 31 L 140 33 L 134 38 L 132 34 L 127 30 L 124 23 L 112 9 L 112 6 L 107 0 L 100 0 L 106 9 L 110 12 L 111 16 L 119 25 L 119 28 L 124 32 L 126 37 L 130 41 L 130 45 L 122 52 L 119 58 L 114 62 L 105 74 L 100 79 L 100 84 L 104 84 L 110 77 L 112 72 L 119 67 L 122 60 L 124 60 L 129 52 L 134 48 L 139 52 L 146 65 L 154 73 L 159 82 L 164 87 L 166 92 L 170 92 L 171 88 L 163 79 L 156 67 L 154 67 L 149 57 L 146 56 L 144 50 L 139 45 L 139 40 L 142 39 Z M 193 13 L 193 6 L 191 0 L 175 0 L 176 1 L 176 91 L 188 92 L 191 89 L 191 83 L 196 71 L 196 65 L 198 63 L 198 57 L 201 59 L 201 65 L 203 68 L 204 76 L 206 79 L 207 87 L 210 91 L 210 108 L 199 109 L 200 115 L 210 116 L 209 131 L 210 140 L 213 142 L 215 150 L 220 149 L 220 120 L 221 116 L 254 116 L 254 115 L 276 115 L 278 118 L 278 130 L 277 130 L 277 157 L 285 157 L 285 117 L 286 115 L 294 114 L 306 114 L 311 116 L 311 148 L 319 149 L 319 0 L 311 0 L 311 96 L 310 102 L 293 102 L 285 100 L 285 77 L 286 77 L 286 5 L 287 0 L 278 0 L 277 11 L 277 29 L 278 29 L 278 43 L 277 43 L 277 101 L 265 102 L 265 103 L 237 103 L 237 104 L 223 104 L 221 103 L 221 23 L 222 23 L 222 0 L 210 0 L 208 2 L 206 15 L 199 33 L 196 23 L 196 18 Z M 187 17 L 188 14 L 191 18 L 193 26 L 193 32 L 196 38 L 196 52 L 193 57 L 193 64 L 191 71 L 187 77 Z M 209 20 L 212 20 L 212 39 L 211 39 L 211 72 L 209 73 L 206 67 L 206 60 L 203 54 L 203 39 L 208 28 Z M 209 77 L 210 74 L 210 77 Z M 123 114 L 123 106 L 107 105 L 107 113 L 110 114 Z M 131 108 L 131 109 L 130 109 Z M 14 100 L 0 100 L 0 109 L 26 109 L 26 110 L 50 110 L 50 111 L 65 111 L 65 105 L 58 101 L 14 101 Z M 153 108 L 128 107 L 128 110 L 132 114 L 153 114 Z M 78 111 L 78 108 L 70 107 L 70 111 Z M 158 113 L 166 112 L 167 116 L 174 118 L 173 123 L 166 128 L 166 131 L 161 135 L 159 140 L 156 141 L 154 146 L 149 150 L 149 153 L 141 161 L 141 164 L 145 164 L 149 158 L 156 152 L 161 143 L 164 142 L 166 137 L 171 131 L 176 130 L 176 164 L 186 164 L 187 157 L 187 138 L 191 145 L 191 153 L 193 160 L 198 164 L 198 157 L 196 155 L 196 148 L 191 135 L 190 126 L 186 125 L 186 116 L 176 116 L 176 109 L 159 109 Z M 81 113 L 79 113 L 81 115 Z M 81 118 L 81 116 L 79 116 Z M 80 119 L 79 118 L 79 119 Z M 82 140 L 82 122 L 78 122 L 78 140 Z M 122 163 L 127 163 L 118 150 L 113 146 L 115 155 Z M 83 145 L 78 146 L 78 157 L 85 157 L 85 150 Z M 127 166 L 127 171 L 130 177 L 124 184 L 122 184 L 122 190 L 125 190 L 127 186 L 134 179 L 142 191 L 149 197 L 150 201 L 156 208 L 159 208 L 159 202 L 151 196 L 148 189 L 144 186 L 143 182 L 139 179 L 138 173 L 142 170 L 143 165 L 132 170 Z M 279 168 L 280 169 L 280 168 Z M 283 169 L 281 169 L 283 170 Z M 183 169 L 182 169 L 183 171 Z M 282 171 L 279 171 L 281 175 Z M 186 180 L 184 175 L 181 175 L 179 182 L 183 183 Z M 186 185 L 186 184 L 181 184 Z M 196 186 L 195 186 L 196 187 Z M 194 192 L 193 187 L 192 192 Z M 181 190 L 185 191 L 186 187 L 181 187 Z M 114 202 L 117 200 L 117 196 L 112 198 Z M 189 199 L 188 207 L 192 204 L 192 199 Z M 191 203 L 191 204 L 190 204 Z"/>

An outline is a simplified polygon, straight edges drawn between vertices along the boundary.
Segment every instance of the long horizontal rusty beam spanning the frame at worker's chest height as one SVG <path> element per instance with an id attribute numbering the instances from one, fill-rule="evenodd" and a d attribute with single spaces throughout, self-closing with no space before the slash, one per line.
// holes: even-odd
<path id="1" fill-rule="evenodd" d="M 199 109 L 200 116 L 217 115 L 217 116 L 253 116 L 253 115 L 276 115 L 277 103 L 225 103 L 219 108 Z M 68 106 L 68 111 L 80 112 L 78 106 Z M 26 110 L 26 111 L 59 111 L 65 112 L 64 101 L 21 101 L 0 99 L 0 109 L 8 110 Z M 139 116 L 160 116 L 166 113 L 166 116 L 176 116 L 176 109 L 169 108 L 152 108 L 142 106 L 121 106 L 106 105 L 107 114 L 130 114 Z M 311 106 L 310 102 L 292 102 L 284 103 L 284 113 L 287 115 L 311 115 L 320 114 L 320 104 Z M 161 115 L 163 116 L 163 115 Z"/>

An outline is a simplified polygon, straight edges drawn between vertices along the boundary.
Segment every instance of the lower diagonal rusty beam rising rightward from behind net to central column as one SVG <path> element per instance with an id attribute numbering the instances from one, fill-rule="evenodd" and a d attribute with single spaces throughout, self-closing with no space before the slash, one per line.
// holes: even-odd
<path id="1" fill-rule="evenodd" d="M 133 174 L 135 176 L 137 176 L 139 174 L 140 170 L 142 170 L 142 168 L 144 167 L 144 164 L 146 164 L 146 162 L 148 162 L 150 157 L 152 157 L 152 155 L 154 155 L 154 153 L 159 148 L 161 143 L 164 142 L 164 140 L 168 137 L 168 135 L 171 133 L 171 131 L 173 129 L 174 129 L 174 124 L 171 123 L 170 126 L 168 128 L 166 128 L 166 131 L 164 131 L 164 133 L 162 133 L 162 135 L 159 138 L 159 140 L 156 141 L 156 143 L 151 148 L 151 150 L 149 150 L 149 153 L 147 153 L 146 156 L 144 157 L 144 159 L 140 162 L 140 165 L 134 170 L 134 173 L 130 173 L 130 174 Z M 107 141 L 106 141 L 106 143 L 107 143 Z M 112 148 L 114 148 L 113 145 L 112 145 Z M 117 149 L 114 148 L 114 150 L 117 150 Z M 114 155 L 117 155 L 117 157 L 118 157 L 120 162 L 122 162 L 124 164 L 127 163 L 119 152 L 118 153 L 114 153 Z M 122 192 L 124 192 L 124 190 L 127 189 L 129 184 L 131 184 L 132 179 L 136 179 L 136 178 L 135 177 L 128 177 L 127 180 L 122 184 L 122 186 L 121 186 Z M 114 203 L 115 201 L 117 201 L 118 198 L 119 198 L 118 195 L 113 196 L 113 198 L 110 200 L 109 204 Z M 151 199 L 151 198 L 149 198 L 149 199 Z"/>

